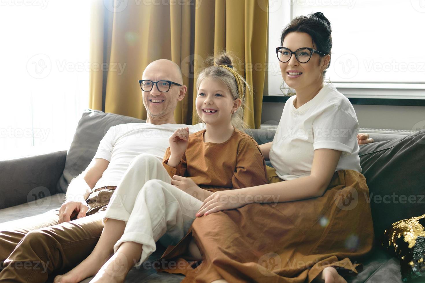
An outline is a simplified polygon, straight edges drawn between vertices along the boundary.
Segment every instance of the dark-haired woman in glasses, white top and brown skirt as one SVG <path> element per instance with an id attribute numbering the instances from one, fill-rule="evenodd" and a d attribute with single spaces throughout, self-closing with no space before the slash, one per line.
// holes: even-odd
<path id="1" fill-rule="evenodd" d="M 357 117 L 350 101 L 323 83 L 330 22 L 320 12 L 296 17 L 280 43 L 282 77 L 296 95 L 284 106 L 274 140 L 260 146 L 274 167 L 267 168 L 268 184 L 205 199 L 192 224 L 202 262 L 179 270 L 182 282 L 343 283 L 341 275 L 361 267 L 352 260 L 372 248 Z M 163 257 L 178 258 L 184 243 Z"/>

